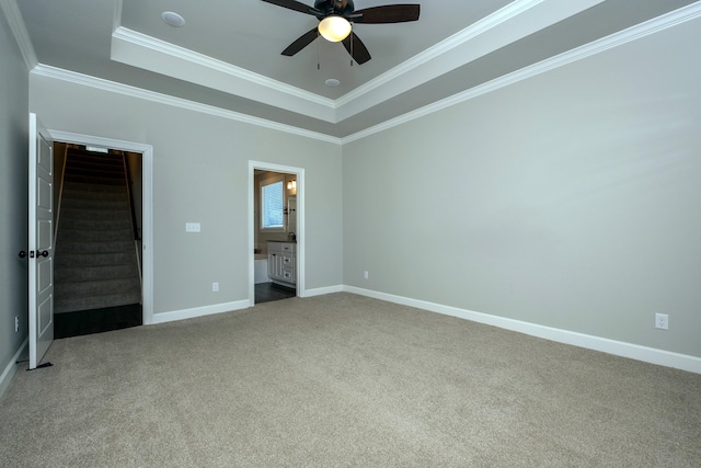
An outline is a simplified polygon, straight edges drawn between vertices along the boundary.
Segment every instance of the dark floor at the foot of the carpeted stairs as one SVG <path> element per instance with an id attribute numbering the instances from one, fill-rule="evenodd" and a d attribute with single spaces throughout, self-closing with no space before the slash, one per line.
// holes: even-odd
<path id="1" fill-rule="evenodd" d="M 54 315 L 54 338 L 80 336 L 138 327 L 143 323 L 140 304 Z"/>

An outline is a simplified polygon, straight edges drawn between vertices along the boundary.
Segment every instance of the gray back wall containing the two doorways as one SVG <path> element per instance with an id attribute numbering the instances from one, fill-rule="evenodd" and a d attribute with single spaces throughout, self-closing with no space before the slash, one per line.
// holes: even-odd
<path id="1" fill-rule="evenodd" d="M 337 145 L 48 77 L 30 94 L 49 129 L 153 146 L 154 313 L 249 298 L 249 160 L 304 169 L 306 285 L 341 284 Z"/>

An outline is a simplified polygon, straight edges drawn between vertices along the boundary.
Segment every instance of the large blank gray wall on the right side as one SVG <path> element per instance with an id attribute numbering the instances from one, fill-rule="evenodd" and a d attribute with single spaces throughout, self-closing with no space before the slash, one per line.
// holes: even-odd
<path id="1" fill-rule="evenodd" d="M 699 20 L 345 145 L 344 283 L 701 356 L 698 44 Z"/>

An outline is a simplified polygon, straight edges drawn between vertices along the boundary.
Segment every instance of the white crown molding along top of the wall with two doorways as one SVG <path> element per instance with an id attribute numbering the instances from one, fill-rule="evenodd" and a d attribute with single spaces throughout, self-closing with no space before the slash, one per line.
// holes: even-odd
<path id="1" fill-rule="evenodd" d="M 310 130 L 306 130 L 303 128 L 295 127 L 291 125 L 279 124 L 277 122 L 267 121 L 265 118 L 253 117 L 251 115 L 241 114 L 239 112 L 228 111 L 220 107 L 215 107 L 212 105 L 200 104 L 200 103 L 188 101 L 181 98 L 173 98 L 166 94 L 161 94 L 153 91 L 147 91 L 141 88 L 130 87 L 127 84 L 104 80 L 102 78 L 95 78 L 88 75 L 77 73 L 74 71 L 68 71 L 68 70 L 51 67 L 48 65 L 37 65 L 32 70 L 32 75 L 53 78 L 61 81 L 68 81 L 74 84 L 96 88 L 103 91 L 124 94 L 131 98 L 143 99 L 146 101 L 157 102 L 165 105 L 172 105 L 172 106 L 186 109 L 194 112 L 202 112 L 204 114 L 209 114 L 217 117 L 243 122 L 246 124 L 271 128 L 274 130 L 285 132 L 288 134 L 295 134 L 295 135 L 303 136 L 307 138 L 327 141 L 335 145 L 341 144 L 340 138 L 325 135 L 325 134 L 320 134 L 318 132 L 310 132 Z"/>

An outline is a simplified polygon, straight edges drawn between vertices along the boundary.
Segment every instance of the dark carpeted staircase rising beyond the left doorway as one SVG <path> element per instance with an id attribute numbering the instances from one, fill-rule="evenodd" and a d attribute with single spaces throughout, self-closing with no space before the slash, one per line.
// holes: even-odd
<path id="1" fill-rule="evenodd" d="M 68 150 L 55 261 L 55 313 L 141 303 L 122 156 Z"/>

